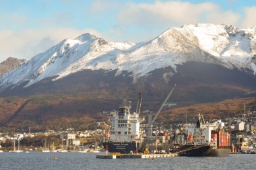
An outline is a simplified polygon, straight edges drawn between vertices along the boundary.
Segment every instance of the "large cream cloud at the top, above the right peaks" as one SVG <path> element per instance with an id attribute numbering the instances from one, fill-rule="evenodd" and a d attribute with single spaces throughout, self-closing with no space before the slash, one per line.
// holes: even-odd
<path id="1" fill-rule="evenodd" d="M 119 13 L 121 24 L 140 26 L 182 26 L 199 22 L 237 25 L 240 15 L 223 11 L 215 3 L 192 4 L 182 1 L 156 1 L 155 3 L 127 4 Z"/>

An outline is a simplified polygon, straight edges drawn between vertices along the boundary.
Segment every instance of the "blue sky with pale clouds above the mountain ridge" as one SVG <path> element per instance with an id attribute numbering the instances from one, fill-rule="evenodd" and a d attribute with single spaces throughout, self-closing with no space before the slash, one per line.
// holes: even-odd
<path id="1" fill-rule="evenodd" d="M 0 62 L 30 59 L 65 38 L 90 33 L 147 42 L 185 24 L 256 26 L 255 0 L 0 0 Z"/>

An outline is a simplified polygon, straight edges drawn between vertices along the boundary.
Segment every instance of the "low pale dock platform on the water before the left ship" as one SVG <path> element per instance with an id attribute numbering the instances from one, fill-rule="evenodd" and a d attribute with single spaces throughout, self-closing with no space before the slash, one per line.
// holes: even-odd
<path id="1" fill-rule="evenodd" d="M 155 159 L 155 158 L 164 158 L 164 157 L 178 157 L 177 153 L 168 153 L 168 154 L 121 154 L 121 155 L 96 155 L 98 159 Z"/>

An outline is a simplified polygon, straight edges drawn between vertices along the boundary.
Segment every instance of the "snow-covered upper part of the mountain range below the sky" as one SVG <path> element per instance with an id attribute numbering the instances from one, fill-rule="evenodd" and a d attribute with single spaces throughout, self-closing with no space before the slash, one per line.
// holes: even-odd
<path id="1" fill-rule="evenodd" d="M 156 69 L 205 62 L 256 73 L 256 28 L 197 24 L 170 28 L 146 43 L 110 42 L 91 34 L 66 39 L 3 75 L 0 90 L 57 81 L 84 70 L 117 70 L 143 77 Z M 26 82 L 25 84 L 23 84 Z"/>

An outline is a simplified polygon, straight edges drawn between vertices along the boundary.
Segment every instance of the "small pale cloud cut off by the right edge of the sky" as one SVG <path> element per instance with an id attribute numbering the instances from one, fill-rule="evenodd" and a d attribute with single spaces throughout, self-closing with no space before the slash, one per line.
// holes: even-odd
<path id="1" fill-rule="evenodd" d="M 256 26 L 256 7 L 245 8 L 245 19 L 242 23 L 243 28 L 251 28 Z"/>

